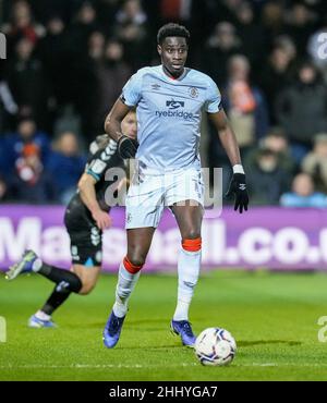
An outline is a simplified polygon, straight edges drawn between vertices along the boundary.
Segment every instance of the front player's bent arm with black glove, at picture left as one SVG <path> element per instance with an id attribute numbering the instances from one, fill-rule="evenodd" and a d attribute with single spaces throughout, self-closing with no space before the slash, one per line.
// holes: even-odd
<path id="1" fill-rule="evenodd" d="M 114 102 L 105 121 L 105 131 L 118 143 L 118 150 L 122 158 L 133 158 L 137 151 L 137 141 L 121 133 L 121 122 L 132 108 L 120 98 Z"/>

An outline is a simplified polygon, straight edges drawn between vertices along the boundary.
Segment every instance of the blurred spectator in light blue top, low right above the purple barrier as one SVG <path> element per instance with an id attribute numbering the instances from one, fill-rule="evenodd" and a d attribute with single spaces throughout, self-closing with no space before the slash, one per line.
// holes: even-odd
<path id="1" fill-rule="evenodd" d="M 327 208 L 327 196 L 315 192 L 314 182 L 307 173 L 299 173 L 292 183 L 292 192 L 284 193 L 280 198 L 282 207 Z"/>

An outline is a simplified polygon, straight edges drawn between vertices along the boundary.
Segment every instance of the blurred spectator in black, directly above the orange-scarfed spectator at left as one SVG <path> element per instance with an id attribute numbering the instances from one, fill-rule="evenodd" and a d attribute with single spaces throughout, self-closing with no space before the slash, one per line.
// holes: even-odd
<path id="1" fill-rule="evenodd" d="M 34 44 L 21 39 L 15 56 L 8 61 L 5 80 L 21 115 L 35 117 L 37 125 L 47 129 L 49 86 L 40 60 L 33 57 Z"/>

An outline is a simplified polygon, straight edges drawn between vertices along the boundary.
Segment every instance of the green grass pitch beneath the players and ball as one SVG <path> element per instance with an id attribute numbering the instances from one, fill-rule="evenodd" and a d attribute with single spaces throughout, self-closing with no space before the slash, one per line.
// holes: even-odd
<path id="1" fill-rule="evenodd" d="M 102 276 L 88 296 L 73 295 L 55 315 L 58 329 L 28 329 L 27 318 L 52 289 L 32 276 L 0 274 L 0 380 L 327 380 L 327 343 L 317 320 L 327 316 L 325 273 L 204 272 L 191 320 L 196 332 L 228 329 L 238 342 L 229 367 L 203 367 L 169 331 L 175 276 L 143 273 L 116 349 L 101 331 L 116 276 Z M 327 332 L 326 332 L 327 335 Z"/>

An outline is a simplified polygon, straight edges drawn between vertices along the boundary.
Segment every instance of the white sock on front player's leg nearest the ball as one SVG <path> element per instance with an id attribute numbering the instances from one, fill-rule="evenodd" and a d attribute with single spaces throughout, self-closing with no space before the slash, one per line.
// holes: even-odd
<path id="1" fill-rule="evenodd" d="M 173 314 L 173 320 L 189 320 L 189 308 L 197 283 L 201 268 L 201 251 L 180 251 L 178 261 L 179 288 L 178 304 Z"/>

